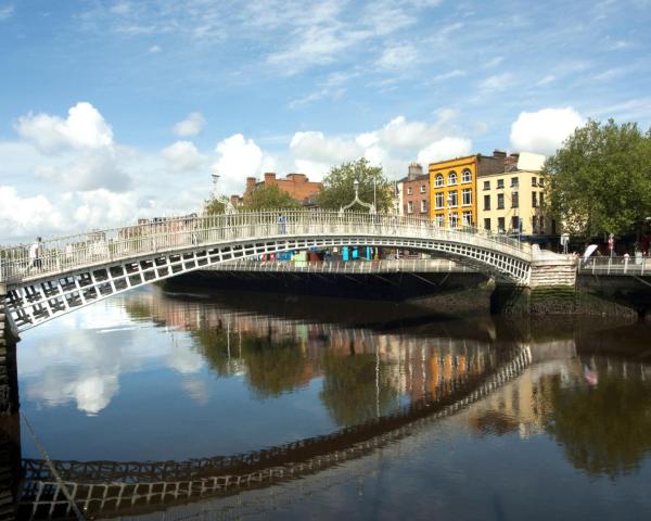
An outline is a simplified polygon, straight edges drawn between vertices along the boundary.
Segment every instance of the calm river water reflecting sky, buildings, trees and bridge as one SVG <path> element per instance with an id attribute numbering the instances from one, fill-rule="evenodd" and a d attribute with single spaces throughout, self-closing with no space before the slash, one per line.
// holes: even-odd
<path id="1" fill-rule="evenodd" d="M 23 335 L 22 457 L 91 518 L 651 519 L 650 339 L 150 288 Z"/>

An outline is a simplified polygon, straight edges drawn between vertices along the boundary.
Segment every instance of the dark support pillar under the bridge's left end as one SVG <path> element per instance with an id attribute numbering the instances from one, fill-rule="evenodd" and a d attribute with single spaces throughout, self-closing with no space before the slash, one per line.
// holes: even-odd
<path id="1" fill-rule="evenodd" d="M 5 315 L 7 285 L 0 282 L 0 417 L 18 411 L 18 370 L 16 343 L 11 322 Z"/>

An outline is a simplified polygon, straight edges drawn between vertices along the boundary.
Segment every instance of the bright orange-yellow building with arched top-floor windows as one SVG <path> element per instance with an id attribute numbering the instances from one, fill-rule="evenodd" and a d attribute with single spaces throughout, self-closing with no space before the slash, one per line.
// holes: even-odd
<path id="1" fill-rule="evenodd" d="M 430 164 L 430 217 L 441 227 L 476 226 L 477 156 Z"/>

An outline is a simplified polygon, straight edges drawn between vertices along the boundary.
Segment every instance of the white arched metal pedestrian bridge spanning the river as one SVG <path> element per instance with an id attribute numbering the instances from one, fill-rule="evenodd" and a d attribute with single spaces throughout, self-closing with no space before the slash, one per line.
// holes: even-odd
<path id="1" fill-rule="evenodd" d="M 518 284 L 532 252 L 516 239 L 425 218 L 326 211 L 184 216 L 0 247 L 5 309 L 17 331 L 131 288 L 272 253 L 384 246 L 422 251 Z M 34 251 L 37 250 L 37 255 Z"/>

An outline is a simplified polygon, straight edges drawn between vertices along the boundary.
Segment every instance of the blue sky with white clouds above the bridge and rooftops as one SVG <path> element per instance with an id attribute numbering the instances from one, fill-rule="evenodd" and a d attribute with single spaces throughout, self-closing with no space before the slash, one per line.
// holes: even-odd
<path id="1" fill-rule="evenodd" d="M 0 0 L 0 244 L 651 126 L 651 0 Z"/>

